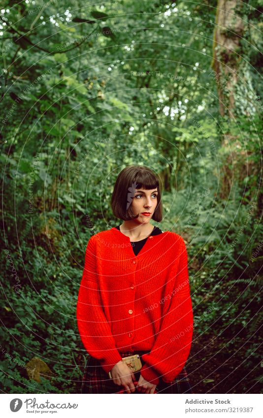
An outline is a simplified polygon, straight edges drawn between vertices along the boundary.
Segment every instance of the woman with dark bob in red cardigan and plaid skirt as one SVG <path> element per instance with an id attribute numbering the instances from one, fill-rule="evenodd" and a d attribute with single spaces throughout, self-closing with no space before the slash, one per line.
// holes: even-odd
<path id="1" fill-rule="evenodd" d="M 193 335 L 187 251 L 180 235 L 150 223 L 162 221 L 156 175 L 127 166 L 111 208 L 124 222 L 90 238 L 78 294 L 90 354 L 82 393 L 193 393 L 184 366 Z M 142 364 L 134 373 L 122 361 L 133 354 Z"/>

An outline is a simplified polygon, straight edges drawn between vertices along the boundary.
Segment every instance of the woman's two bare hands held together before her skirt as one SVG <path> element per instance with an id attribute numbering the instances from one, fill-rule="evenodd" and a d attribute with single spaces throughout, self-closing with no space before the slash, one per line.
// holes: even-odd
<path id="1" fill-rule="evenodd" d="M 134 373 L 122 360 L 113 366 L 111 369 L 111 376 L 115 385 L 123 386 L 127 393 L 135 392 L 133 382 L 135 382 L 136 378 Z M 157 385 L 153 385 L 140 375 L 136 389 L 140 393 L 154 393 L 156 386 Z"/>

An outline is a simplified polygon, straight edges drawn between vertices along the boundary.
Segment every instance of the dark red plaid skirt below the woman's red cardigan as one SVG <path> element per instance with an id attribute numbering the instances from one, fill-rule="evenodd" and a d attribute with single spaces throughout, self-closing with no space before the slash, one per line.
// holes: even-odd
<path id="1" fill-rule="evenodd" d="M 148 352 L 136 351 L 135 353 L 120 353 L 120 355 L 122 357 L 127 357 L 128 355 L 139 354 L 141 364 L 144 365 L 145 362 L 141 358 L 141 355 L 146 353 Z M 140 371 L 135 372 L 134 376 L 138 381 Z M 118 393 L 121 389 L 123 389 L 123 386 L 116 385 L 113 380 L 109 378 L 108 374 L 101 367 L 99 360 L 89 356 L 83 374 L 81 393 Z M 155 390 L 157 393 L 194 393 L 190 386 L 185 367 L 183 367 L 182 371 L 170 383 L 166 383 L 160 378 L 160 382 Z M 139 392 L 135 390 L 133 393 Z"/>

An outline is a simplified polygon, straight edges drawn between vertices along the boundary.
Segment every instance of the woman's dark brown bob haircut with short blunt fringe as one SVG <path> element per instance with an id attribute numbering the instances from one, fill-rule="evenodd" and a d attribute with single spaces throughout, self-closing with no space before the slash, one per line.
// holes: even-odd
<path id="1" fill-rule="evenodd" d="M 110 202 L 114 216 L 123 221 L 131 221 L 132 219 L 138 218 L 138 215 L 133 213 L 131 207 L 135 188 L 158 190 L 157 206 L 152 219 L 161 222 L 163 219 L 163 208 L 159 180 L 154 172 L 144 165 L 129 165 L 119 173 Z"/>

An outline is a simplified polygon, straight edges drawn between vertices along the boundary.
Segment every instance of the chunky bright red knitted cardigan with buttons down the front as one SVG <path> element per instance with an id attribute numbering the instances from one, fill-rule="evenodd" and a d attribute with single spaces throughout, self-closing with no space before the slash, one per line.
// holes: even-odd
<path id="1" fill-rule="evenodd" d="M 188 358 L 193 311 L 183 238 L 150 236 L 137 256 L 117 228 L 93 235 L 86 248 L 77 324 L 87 352 L 108 373 L 120 353 L 148 351 L 142 377 L 172 382 Z"/>

